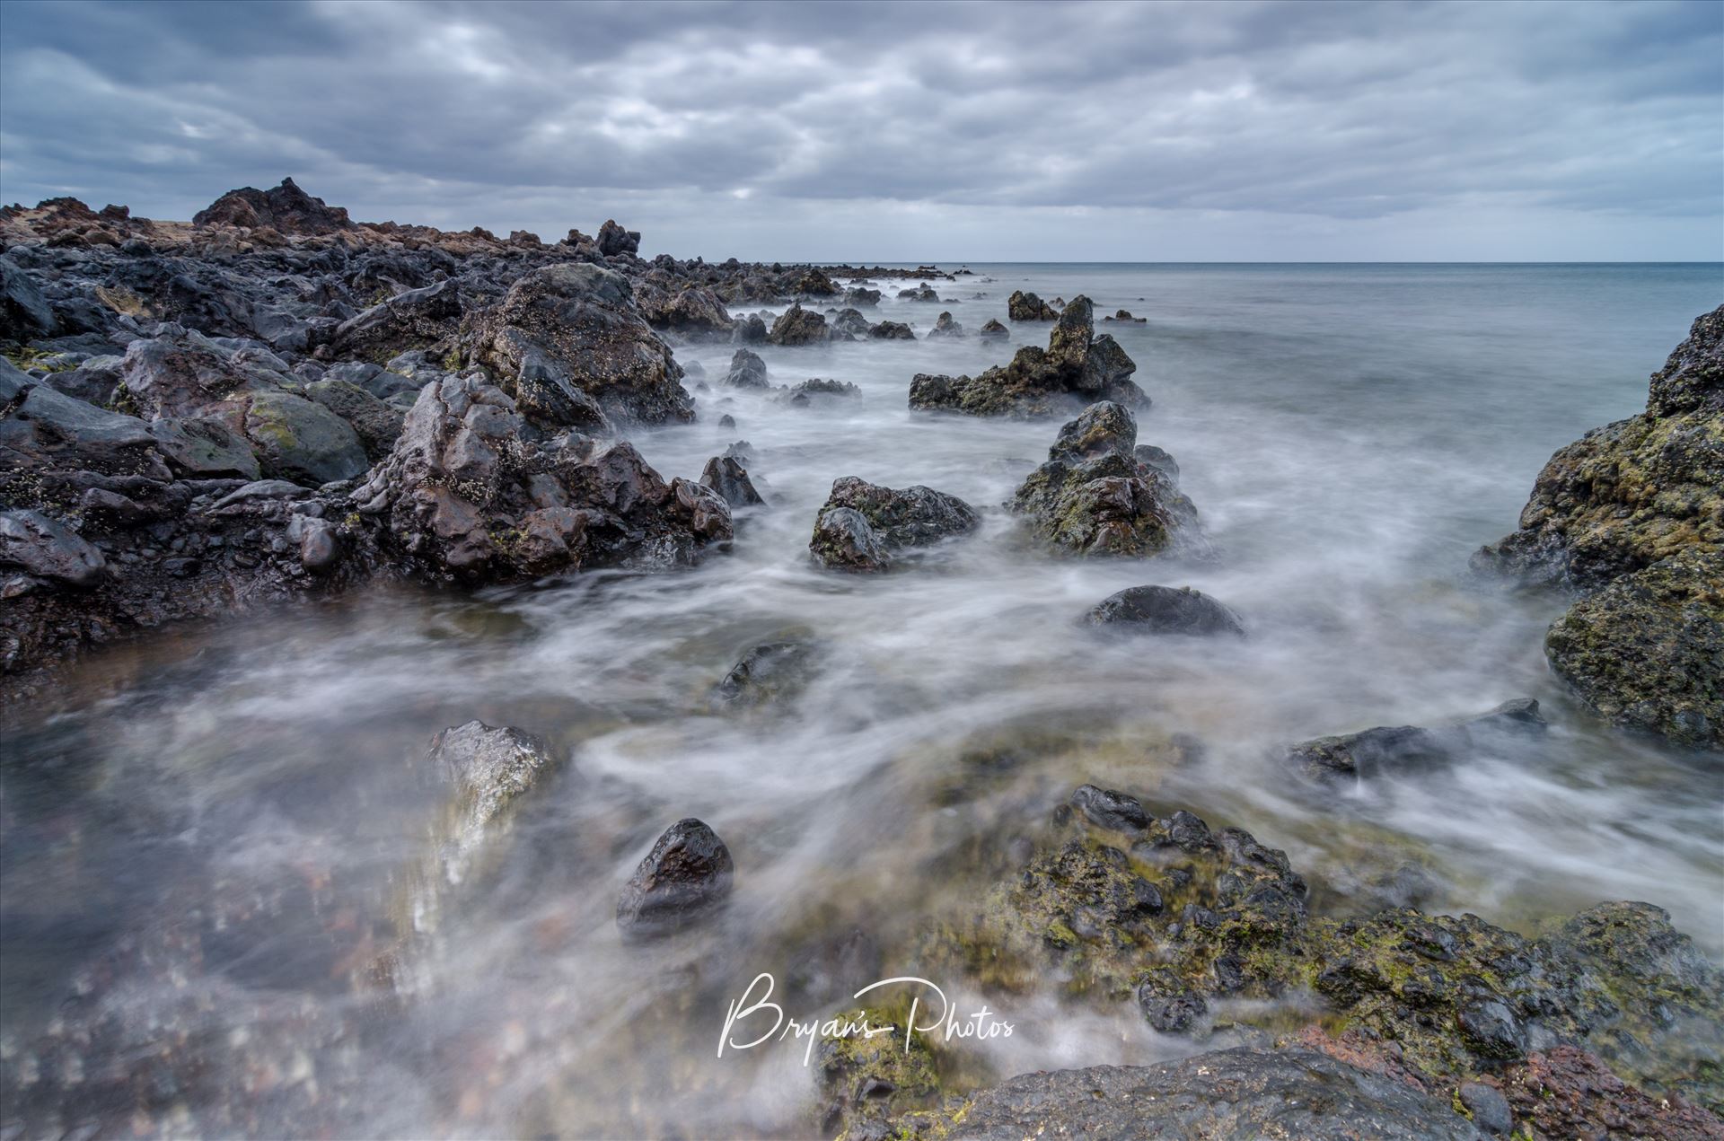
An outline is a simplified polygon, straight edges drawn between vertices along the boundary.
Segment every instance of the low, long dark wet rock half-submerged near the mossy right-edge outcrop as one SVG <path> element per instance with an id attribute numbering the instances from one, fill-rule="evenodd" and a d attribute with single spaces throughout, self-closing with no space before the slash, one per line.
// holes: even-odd
<path id="1" fill-rule="evenodd" d="M 1288 764 L 1312 779 L 1372 777 L 1384 772 L 1417 772 L 1502 746 L 1512 739 L 1540 736 L 1545 717 L 1533 698 L 1503 701 L 1488 714 L 1438 729 L 1377 726 L 1360 733 L 1314 738 L 1291 746 Z"/>

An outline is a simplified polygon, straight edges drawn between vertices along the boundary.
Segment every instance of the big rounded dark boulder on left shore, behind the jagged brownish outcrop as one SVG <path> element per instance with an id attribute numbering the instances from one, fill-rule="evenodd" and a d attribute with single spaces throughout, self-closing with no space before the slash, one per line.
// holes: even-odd
<path id="1" fill-rule="evenodd" d="M 679 384 L 683 369 L 615 271 L 534 269 L 479 324 L 481 362 L 524 412 L 552 427 L 595 431 L 595 407 L 641 424 L 695 419 L 695 402 Z"/>

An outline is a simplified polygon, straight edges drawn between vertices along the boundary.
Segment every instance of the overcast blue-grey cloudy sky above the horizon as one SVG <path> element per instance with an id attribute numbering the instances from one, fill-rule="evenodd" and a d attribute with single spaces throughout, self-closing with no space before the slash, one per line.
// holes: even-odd
<path id="1" fill-rule="evenodd" d="M 707 259 L 1721 260 L 1724 2 L 0 0 L 0 200 Z"/>

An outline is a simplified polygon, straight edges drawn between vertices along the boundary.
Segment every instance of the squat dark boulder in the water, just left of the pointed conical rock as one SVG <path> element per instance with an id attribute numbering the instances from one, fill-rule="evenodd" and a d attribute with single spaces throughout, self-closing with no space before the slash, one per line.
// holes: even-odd
<path id="1" fill-rule="evenodd" d="M 845 476 L 821 507 L 809 550 L 834 570 L 886 570 L 893 555 L 967 534 L 981 517 L 964 500 L 933 488 L 881 488 Z"/>

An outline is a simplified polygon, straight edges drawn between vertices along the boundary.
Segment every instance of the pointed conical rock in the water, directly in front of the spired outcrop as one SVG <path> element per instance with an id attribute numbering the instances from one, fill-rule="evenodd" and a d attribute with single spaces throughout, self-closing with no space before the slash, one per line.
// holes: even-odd
<path id="1" fill-rule="evenodd" d="M 1048 462 L 1019 484 L 1009 508 L 1038 543 L 1060 553 L 1207 553 L 1191 500 L 1160 469 L 1133 455 L 1136 440 L 1138 424 L 1127 408 L 1090 405 L 1060 429 Z"/>

